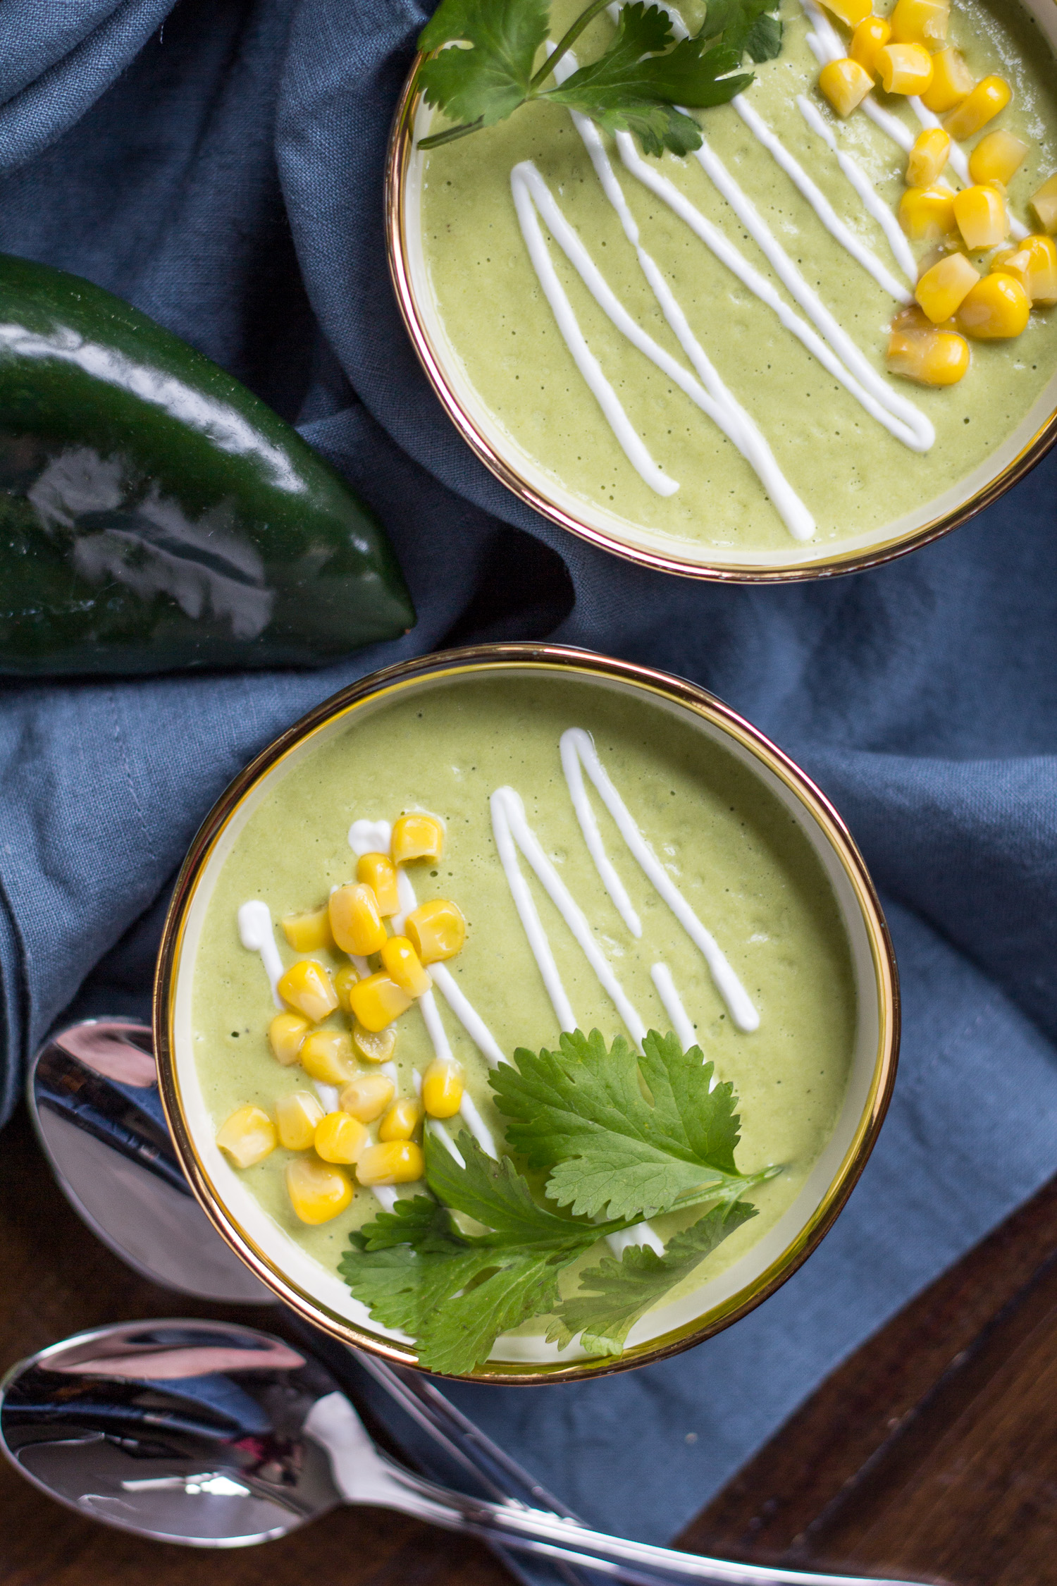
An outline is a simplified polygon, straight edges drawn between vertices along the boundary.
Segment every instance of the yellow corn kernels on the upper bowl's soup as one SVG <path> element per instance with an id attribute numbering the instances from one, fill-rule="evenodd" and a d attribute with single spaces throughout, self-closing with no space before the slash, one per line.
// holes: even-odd
<path id="1" fill-rule="evenodd" d="M 848 56 L 830 60 L 818 79 L 838 116 L 851 116 L 878 79 L 886 94 L 916 95 L 940 125 L 925 127 L 906 160 L 899 220 L 911 241 L 932 243 L 919 263 L 913 306 L 892 322 L 887 366 L 921 385 L 954 385 L 970 365 L 968 339 L 1019 336 L 1033 308 L 1057 303 L 1057 174 L 1030 205 L 1040 233 L 1009 244 L 1006 184 L 1028 146 L 992 130 L 968 157 L 970 187 L 943 178 L 951 143 L 975 136 L 1006 108 L 1009 84 L 973 76 L 946 44 L 949 0 L 899 0 L 891 17 L 870 0 L 822 0 L 851 32 Z M 978 268 L 970 254 L 986 254 Z"/>

